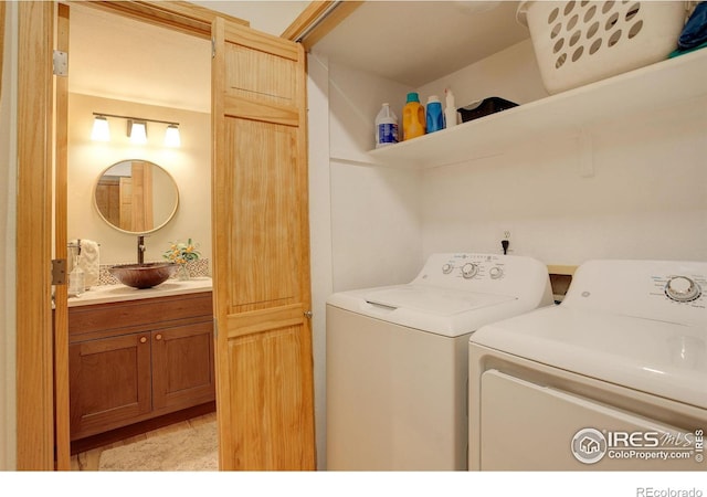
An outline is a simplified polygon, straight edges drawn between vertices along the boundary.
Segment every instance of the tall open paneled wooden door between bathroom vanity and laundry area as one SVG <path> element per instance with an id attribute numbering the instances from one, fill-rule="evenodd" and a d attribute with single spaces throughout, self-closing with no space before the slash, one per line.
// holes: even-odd
<path id="1" fill-rule="evenodd" d="M 212 232 L 222 469 L 314 469 L 300 45 L 217 19 Z"/>

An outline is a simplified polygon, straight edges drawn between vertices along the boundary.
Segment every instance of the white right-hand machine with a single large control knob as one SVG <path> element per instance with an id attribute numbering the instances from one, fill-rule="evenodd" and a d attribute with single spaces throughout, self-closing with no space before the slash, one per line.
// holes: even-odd
<path id="1" fill-rule="evenodd" d="M 706 470 L 707 263 L 591 261 L 469 340 L 469 469 Z"/>

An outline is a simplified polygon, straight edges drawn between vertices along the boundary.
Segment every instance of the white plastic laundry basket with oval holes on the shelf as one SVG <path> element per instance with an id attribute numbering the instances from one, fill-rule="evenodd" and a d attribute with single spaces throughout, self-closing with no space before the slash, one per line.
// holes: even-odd
<path id="1" fill-rule="evenodd" d="M 530 30 L 550 94 L 664 59 L 677 47 L 684 1 L 523 1 L 516 19 Z"/>

